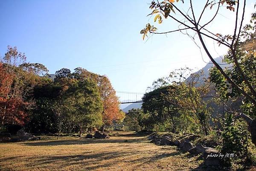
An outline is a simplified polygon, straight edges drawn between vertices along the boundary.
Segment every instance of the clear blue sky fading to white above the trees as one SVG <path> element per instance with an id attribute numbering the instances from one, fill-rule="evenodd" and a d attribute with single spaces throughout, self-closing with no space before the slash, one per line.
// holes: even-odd
<path id="1" fill-rule="evenodd" d="M 195 11 L 201 12 L 203 0 L 194 1 Z M 153 23 L 152 18 L 146 17 L 151 12 L 150 2 L 1 0 L 0 55 L 4 55 L 7 45 L 17 46 L 27 61 L 44 64 L 49 73 L 63 67 L 82 67 L 107 75 L 117 91 L 141 93 L 174 69 L 204 67 L 204 61 L 209 59 L 203 53 L 203 61 L 200 50 L 186 35 L 154 35 L 148 41 L 142 40 L 140 30 L 146 23 Z M 247 21 L 253 5 L 254 0 L 247 0 Z M 222 15 L 208 28 L 216 33 L 232 33 L 234 13 L 225 7 L 220 12 Z M 210 14 L 207 12 L 206 18 Z M 177 28 L 172 20 L 155 26 L 160 31 Z M 227 51 L 213 46 L 212 41 L 207 43 L 215 57 Z"/>

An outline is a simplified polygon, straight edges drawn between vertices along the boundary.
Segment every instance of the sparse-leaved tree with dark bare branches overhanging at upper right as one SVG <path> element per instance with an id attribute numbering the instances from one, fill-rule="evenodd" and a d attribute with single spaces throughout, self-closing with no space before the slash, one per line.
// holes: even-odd
<path id="1" fill-rule="evenodd" d="M 176 3 L 177 2 L 177 3 Z M 181 7 L 179 7 L 178 3 L 182 2 L 188 3 L 189 9 L 188 12 L 183 12 L 181 10 Z M 233 30 L 233 33 L 230 35 L 222 35 L 221 33 L 213 33 L 207 26 L 209 26 L 210 23 L 212 23 L 217 14 L 220 12 L 220 9 L 222 6 L 226 5 L 225 8 L 229 9 L 231 12 L 235 12 L 234 18 L 235 18 L 235 27 Z M 244 22 L 244 14 L 245 14 L 245 8 L 246 8 L 246 0 L 243 1 L 243 3 L 240 0 L 207 0 L 204 9 L 201 10 L 200 13 L 196 13 L 194 10 L 192 0 L 184 2 L 183 0 L 163 0 L 161 2 L 154 0 L 151 3 L 150 9 L 152 9 L 152 12 L 150 15 L 154 15 L 154 21 L 158 20 L 159 23 L 162 23 L 162 17 L 163 18 L 170 18 L 176 23 L 180 24 L 180 26 L 183 26 L 183 28 L 179 27 L 176 30 L 171 30 L 168 32 L 156 32 L 157 28 L 152 26 L 150 23 L 146 25 L 146 27 L 141 30 L 141 34 L 143 34 L 143 39 L 145 36 L 147 36 L 148 33 L 153 34 L 167 34 L 172 32 L 182 32 L 185 31 L 185 34 L 187 34 L 187 31 L 194 32 L 195 35 L 198 36 L 198 39 L 201 43 L 201 45 L 204 48 L 204 51 L 206 52 L 207 56 L 210 58 L 212 63 L 215 65 L 215 67 L 218 69 L 218 71 L 223 75 L 224 79 L 230 84 L 233 88 L 236 89 L 241 95 L 243 95 L 248 101 L 250 101 L 251 104 L 253 104 L 253 107 L 256 106 L 256 90 L 253 84 L 253 82 L 250 81 L 250 78 L 247 77 L 246 73 L 242 70 L 242 66 L 239 63 L 239 42 L 246 43 L 247 39 L 241 36 L 242 26 Z M 204 13 L 207 9 L 214 9 L 215 12 L 212 16 L 212 18 L 207 21 L 206 23 L 202 23 L 204 20 Z M 236 7 L 236 8 L 235 8 Z M 241 11 L 241 15 L 239 13 Z M 177 14 L 176 14 L 177 12 Z M 196 15 L 198 14 L 198 15 Z M 179 19 L 177 16 L 182 16 L 182 19 Z M 253 17 L 255 17 L 255 14 L 253 14 Z M 241 20 L 239 20 L 241 18 Z M 255 23 L 254 23 L 255 24 Z M 255 29 L 255 27 L 253 28 Z M 252 32 L 253 34 L 253 42 L 255 40 L 255 32 Z M 189 35 L 190 38 L 195 40 L 195 36 Z M 231 78 L 227 72 L 225 72 L 220 65 L 213 59 L 211 53 L 209 52 L 209 49 L 207 48 L 206 42 L 204 40 L 209 39 L 217 42 L 219 45 L 226 46 L 230 49 L 230 56 L 233 59 L 234 67 L 236 67 L 237 72 L 239 73 L 239 78 L 243 81 L 244 86 L 240 87 L 239 84 L 234 81 L 233 78 Z M 253 53 L 255 53 L 255 46 L 251 46 L 251 49 Z M 248 51 L 250 52 L 250 51 Z M 243 117 L 250 128 L 256 128 L 256 121 L 253 121 L 249 116 L 245 115 L 244 113 L 241 114 L 241 117 Z M 253 143 L 256 145 L 256 132 L 252 132 L 251 134 L 253 139 Z"/>

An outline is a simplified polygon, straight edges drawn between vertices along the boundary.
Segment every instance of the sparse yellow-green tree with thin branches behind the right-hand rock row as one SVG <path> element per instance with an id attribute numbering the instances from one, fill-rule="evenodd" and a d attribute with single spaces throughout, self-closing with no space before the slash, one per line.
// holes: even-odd
<path id="1" fill-rule="evenodd" d="M 179 69 L 171 72 L 169 79 L 178 86 L 177 91 L 172 93 L 175 93 L 177 106 L 208 135 L 210 110 L 208 101 L 203 98 L 209 95 L 211 84 L 204 78 L 204 72 L 192 73 L 188 68 Z"/>

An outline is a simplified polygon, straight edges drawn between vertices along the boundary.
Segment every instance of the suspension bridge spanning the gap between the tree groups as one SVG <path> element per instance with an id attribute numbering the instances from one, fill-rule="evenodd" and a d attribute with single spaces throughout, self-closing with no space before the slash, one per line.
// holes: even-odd
<path id="1" fill-rule="evenodd" d="M 116 91 L 116 96 L 119 97 L 121 104 L 127 103 L 141 103 L 144 93 L 136 92 L 125 92 L 125 91 Z"/>

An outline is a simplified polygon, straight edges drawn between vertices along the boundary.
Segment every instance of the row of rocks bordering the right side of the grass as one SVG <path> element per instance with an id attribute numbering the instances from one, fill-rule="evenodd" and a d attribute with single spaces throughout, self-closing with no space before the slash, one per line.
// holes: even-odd
<path id="1" fill-rule="evenodd" d="M 214 148 L 204 147 L 203 145 L 192 144 L 190 141 L 194 140 L 195 138 L 196 135 L 194 137 L 189 137 L 189 139 L 182 140 L 173 139 L 173 136 L 148 136 L 151 143 L 156 145 L 175 145 L 184 152 L 188 151 L 190 154 L 194 155 L 202 154 L 204 157 L 204 163 L 206 165 L 219 165 L 220 159 L 218 157 L 211 157 L 218 154 L 218 151 Z"/>

